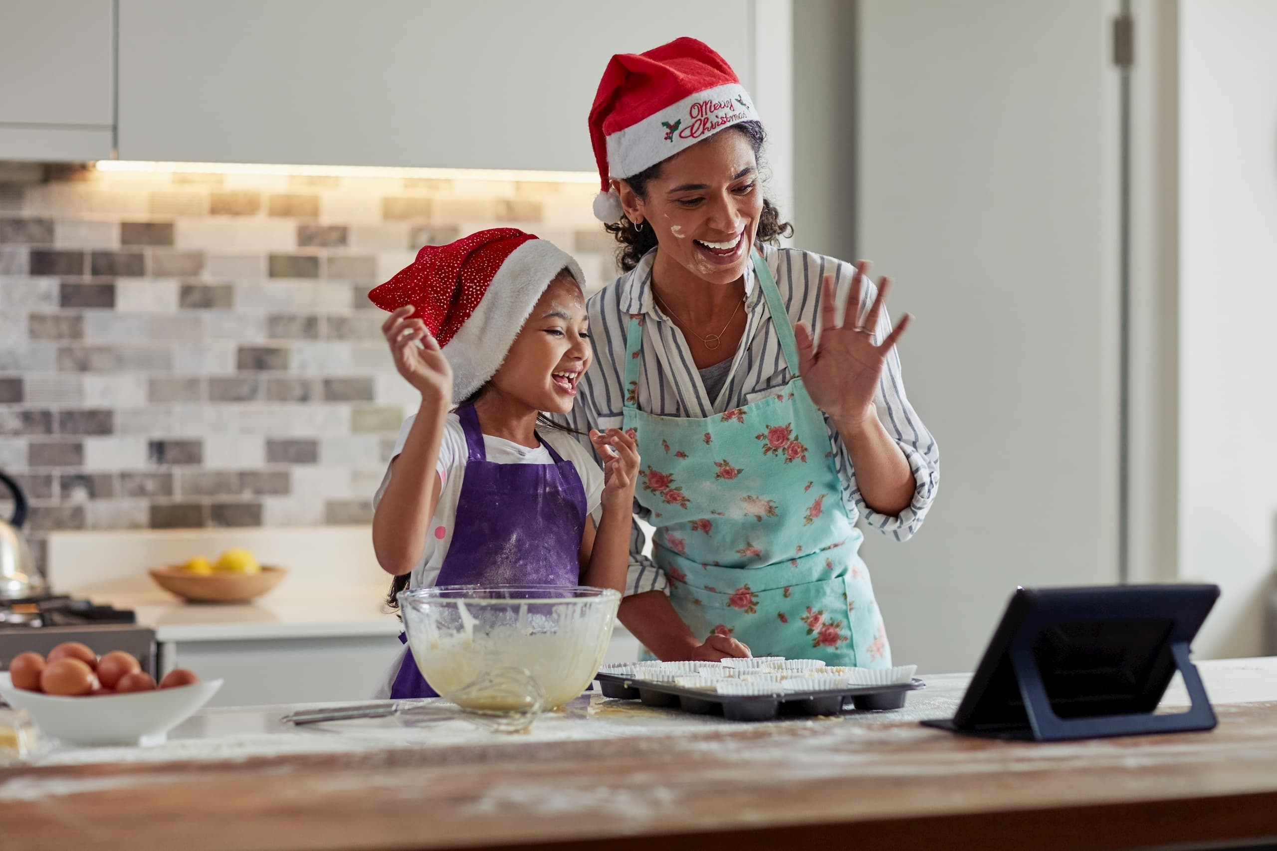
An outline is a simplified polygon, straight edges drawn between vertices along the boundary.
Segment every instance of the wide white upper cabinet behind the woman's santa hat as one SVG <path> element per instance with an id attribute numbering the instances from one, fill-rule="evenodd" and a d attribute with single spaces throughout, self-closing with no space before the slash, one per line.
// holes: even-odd
<path id="1" fill-rule="evenodd" d="M 693 36 L 752 85 L 753 15 L 751 0 L 119 0 L 119 156 L 591 170 L 612 54 Z"/>

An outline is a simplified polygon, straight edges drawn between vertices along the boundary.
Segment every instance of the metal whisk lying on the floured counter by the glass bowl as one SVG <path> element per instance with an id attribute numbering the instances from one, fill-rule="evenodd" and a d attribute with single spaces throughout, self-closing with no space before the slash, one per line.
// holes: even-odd
<path id="1" fill-rule="evenodd" d="M 545 690 L 527 669 L 497 667 L 437 700 L 381 700 L 349 707 L 298 709 L 280 718 L 306 725 L 397 716 L 407 726 L 469 721 L 494 732 L 522 732 L 545 708 Z M 490 707 L 490 708 L 487 708 Z"/>

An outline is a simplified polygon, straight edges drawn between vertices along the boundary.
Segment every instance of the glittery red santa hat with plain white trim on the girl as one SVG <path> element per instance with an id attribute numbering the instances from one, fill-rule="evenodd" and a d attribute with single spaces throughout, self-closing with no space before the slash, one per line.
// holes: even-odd
<path id="1" fill-rule="evenodd" d="M 416 307 L 452 365 L 452 398 L 466 399 L 497 374 L 536 301 L 559 272 L 581 290 L 567 251 L 513 227 L 427 245 L 416 260 L 368 293 L 382 310 Z"/>

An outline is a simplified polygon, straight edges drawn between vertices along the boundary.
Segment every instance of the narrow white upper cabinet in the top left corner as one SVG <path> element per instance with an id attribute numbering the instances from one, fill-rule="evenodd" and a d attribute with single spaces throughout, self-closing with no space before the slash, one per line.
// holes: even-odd
<path id="1" fill-rule="evenodd" d="M 0 3 L 0 159 L 111 156 L 111 0 Z"/>

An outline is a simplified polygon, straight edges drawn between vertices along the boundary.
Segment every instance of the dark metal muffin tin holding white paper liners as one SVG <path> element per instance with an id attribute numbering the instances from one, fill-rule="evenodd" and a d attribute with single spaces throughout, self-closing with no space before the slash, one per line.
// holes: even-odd
<path id="1" fill-rule="evenodd" d="M 684 688 L 673 681 L 654 683 L 633 674 L 595 676 L 605 698 L 641 700 L 651 707 L 679 707 L 692 714 L 722 713 L 729 721 L 771 721 L 782 714 L 833 716 L 850 702 L 859 711 L 899 709 L 909 692 L 925 688 L 919 679 L 894 685 L 844 685 L 821 692 L 778 692 L 775 694 L 719 694 Z"/>

